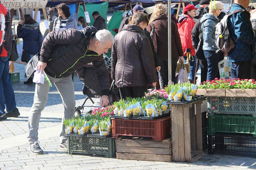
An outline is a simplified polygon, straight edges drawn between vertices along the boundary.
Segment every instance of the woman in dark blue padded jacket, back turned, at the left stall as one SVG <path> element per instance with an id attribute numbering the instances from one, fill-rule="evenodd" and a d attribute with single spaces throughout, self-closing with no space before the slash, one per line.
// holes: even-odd
<path id="1" fill-rule="evenodd" d="M 18 38 L 23 39 L 23 51 L 21 61 L 28 61 L 40 52 L 42 46 L 42 33 L 37 23 L 30 15 L 24 15 L 24 22 L 20 21 L 17 27 Z M 24 84 L 33 84 L 33 78 L 30 77 Z"/>

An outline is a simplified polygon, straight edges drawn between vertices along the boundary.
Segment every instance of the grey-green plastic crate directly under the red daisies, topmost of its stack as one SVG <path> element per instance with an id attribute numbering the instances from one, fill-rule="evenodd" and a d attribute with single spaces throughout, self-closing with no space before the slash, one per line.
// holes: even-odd
<path id="1" fill-rule="evenodd" d="M 256 117 L 256 97 L 207 97 L 208 115 L 238 114 Z"/>

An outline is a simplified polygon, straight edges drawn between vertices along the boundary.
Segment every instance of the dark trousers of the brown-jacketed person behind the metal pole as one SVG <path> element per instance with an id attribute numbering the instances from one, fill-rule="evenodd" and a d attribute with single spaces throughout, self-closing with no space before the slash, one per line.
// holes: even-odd
<path id="1" fill-rule="evenodd" d="M 178 58 L 172 59 L 172 82 L 177 83 L 176 81 L 176 67 L 177 67 L 177 60 Z M 160 80 L 160 86 L 161 89 L 164 89 L 165 86 L 168 85 L 169 76 L 168 76 L 168 60 L 158 60 L 159 65 L 161 67 L 159 71 L 159 80 Z"/>

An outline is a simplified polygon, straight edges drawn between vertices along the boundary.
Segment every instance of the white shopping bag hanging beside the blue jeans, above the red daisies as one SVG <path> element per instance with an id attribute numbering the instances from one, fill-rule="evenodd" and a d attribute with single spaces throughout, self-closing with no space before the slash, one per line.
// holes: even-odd
<path id="1" fill-rule="evenodd" d="M 224 60 L 219 62 L 220 78 L 231 79 L 231 68 L 228 57 L 224 57 Z"/>

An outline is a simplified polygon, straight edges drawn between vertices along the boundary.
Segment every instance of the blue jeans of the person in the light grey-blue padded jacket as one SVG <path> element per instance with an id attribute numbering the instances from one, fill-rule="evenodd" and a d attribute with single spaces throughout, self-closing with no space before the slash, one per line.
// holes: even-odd
<path id="1" fill-rule="evenodd" d="M 204 50 L 204 56 L 208 64 L 207 80 L 214 80 L 218 77 L 219 53 Z"/>

